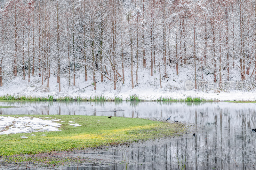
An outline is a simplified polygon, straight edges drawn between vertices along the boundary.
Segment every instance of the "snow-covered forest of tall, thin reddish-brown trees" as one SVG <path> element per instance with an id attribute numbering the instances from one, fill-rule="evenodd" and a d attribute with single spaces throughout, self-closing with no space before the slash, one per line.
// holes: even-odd
<path id="1" fill-rule="evenodd" d="M 0 89 L 255 87 L 255 0 L 0 3 Z"/>

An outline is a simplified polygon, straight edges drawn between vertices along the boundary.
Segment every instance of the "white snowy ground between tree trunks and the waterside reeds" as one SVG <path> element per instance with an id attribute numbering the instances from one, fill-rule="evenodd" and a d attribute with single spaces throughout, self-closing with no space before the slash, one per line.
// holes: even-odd
<path id="1" fill-rule="evenodd" d="M 80 76 L 76 77 L 76 85 L 72 85 L 73 79 L 71 78 L 71 85 L 68 85 L 68 79 L 65 77 L 61 78 L 61 92 L 59 92 L 59 85 L 56 83 L 56 78 L 51 77 L 49 81 L 49 88 L 46 87 L 47 81 L 44 85 L 41 85 L 41 77 L 32 77 L 31 82 L 28 83 L 22 77 L 12 78 L 4 82 L 4 86 L 0 88 L 0 95 L 23 95 L 23 96 L 48 96 L 53 95 L 55 98 L 63 96 L 82 97 L 89 98 L 93 96 L 105 96 L 107 98 L 122 97 L 123 100 L 128 98 L 131 94 L 136 94 L 144 100 L 157 100 L 159 97 L 171 97 L 171 98 L 186 98 L 192 97 L 203 97 L 204 99 L 213 100 L 256 100 L 256 91 L 251 87 L 243 88 L 240 90 L 202 90 L 192 89 L 185 90 L 185 81 L 193 80 L 193 73 L 190 71 L 191 68 L 181 68 L 180 74 L 176 76 L 175 70 L 168 70 L 168 79 L 163 78 L 163 71 L 161 73 L 162 78 L 162 89 L 160 88 L 159 74 L 158 72 L 153 73 L 150 76 L 150 70 L 139 69 L 138 71 L 138 85 L 132 89 L 131 75 L 129 70 L 125 72 L 125 82 L 118 81 L 116 90 L 114 90 L 113 82 L 104 78 L 103 82 L 96 83 L 96 90 L 92 86 L 92 77 L 89 71 L 88 81 L 85 82 L 84 75 L 81 72 Z M 119 71 L 122 74 L 121 71 Z M 135 72 L 135 70 L 134 70 Z M 135 72 L 136 73 L 136 72 Z M 136 85 L 136 74 L 134 73 L 134 85 Z M 200 74 L 198 73 L 198 76 Z M 96 82 L 100 81 L 100 75 L 96 76 Z M 204 81 L 212 81 L 212 74 L 205 74 Z M 231 73 L 230 81 L 239 80 L 239 74 Z M 224 78 L 223 78 L 224 79 Z M 225 79 L 223 80 L 225 81 Z M 254 81 L 254 80 L 253 80 Z M 91 85 L 83 90 L 78 91 L 88 85 Z M 248 84 L 247 84 L 248 86 Z M 18 87 L 18 88 L 17 88 Z M 78 91 L 78 92 L 77 92 Z"/>

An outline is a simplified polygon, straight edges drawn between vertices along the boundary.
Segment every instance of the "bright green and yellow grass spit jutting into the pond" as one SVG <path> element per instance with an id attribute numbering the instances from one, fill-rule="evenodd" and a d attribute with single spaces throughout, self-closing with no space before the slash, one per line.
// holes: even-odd
<path id="1" fill-rule="evenodd" d="M 26 116 L 26 115 L 10 115 Z M 52 117 L 65 121 L 61 131 L 33 132 L 29 134 L 0 135 L 0 155 L 36 154 L 51 151 L 67 151 L 124 144 L 162 137 L 181 136 L 188 131 L 187 125 L 157 122 L 138 118 L 79 115 L 33 115 L 31 117 Z M 72 119 L 72 117 L 74 119 Z M 98 121 L 100 120 L 100 121 Z M 82 126 L 69 126 L 73 121 Z M 46 134 L 47 136 L 40 136 Z M 27 136 L 28 139 L 21 139 Z"/>

